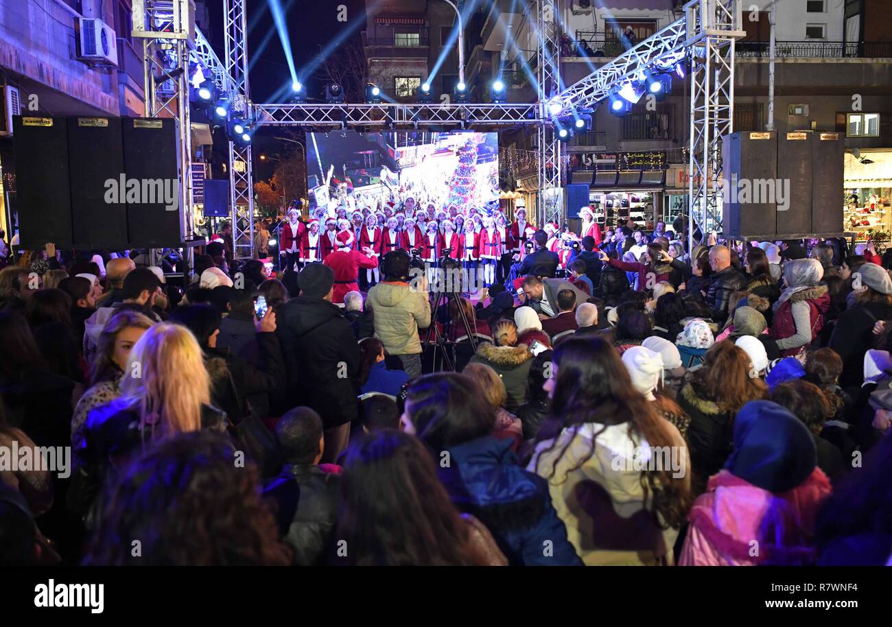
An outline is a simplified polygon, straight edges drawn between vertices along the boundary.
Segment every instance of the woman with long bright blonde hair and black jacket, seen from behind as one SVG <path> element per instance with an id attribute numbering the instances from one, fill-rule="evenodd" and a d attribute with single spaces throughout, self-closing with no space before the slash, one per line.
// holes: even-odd
<path id="1" fill-rule="evenodd" d="M 154 441 L 202 428 L 222 432 L 226 415 L 209 405 L 210 387 L 202 349 L 185 326 L 165 322 L 146 331 L 130 351 L 120 397 L 87 415 L 75 450 L 74 508 L 86 514 L 106 477 Z"/>

